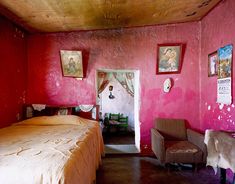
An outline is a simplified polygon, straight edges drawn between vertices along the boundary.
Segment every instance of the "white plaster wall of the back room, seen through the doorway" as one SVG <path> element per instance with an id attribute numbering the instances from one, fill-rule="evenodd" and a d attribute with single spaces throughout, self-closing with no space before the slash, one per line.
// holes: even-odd
<path id="1" fill-rule="evenodd" d="M 113 86 L 112 94 L 115 96 L 114 99 L 109 99 L 110 85 Z M 128 116 L 129 129 L 134 130 L 134 97 L 127 93 L 126 89 L 115 78 L 112 78 L 100 97 L 103 116 L 105 113 L 120 113 Z"/>

